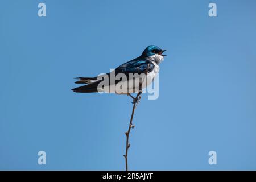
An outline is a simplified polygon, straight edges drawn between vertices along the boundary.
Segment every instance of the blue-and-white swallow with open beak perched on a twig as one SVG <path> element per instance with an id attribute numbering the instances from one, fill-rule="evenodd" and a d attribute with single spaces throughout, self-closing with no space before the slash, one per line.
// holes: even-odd
<path id="1" fill-rule="evenodd" d="M 77 93 L 105 92 L 127 95 L 138 93 L 141 89 L 150 85 L 155 76 L 158 75 L 159 64 L 167 56 L 163 55 L 165 51 L 158 46 L 147 46 L 141 56 L 123 63 L 109 73 L 96 77 L 76 77 L 75 79 L 78 81 L 75 84 L 85 85 L 73 88 L 72 91 Z M 112 78 L 114 81 L 112 81 Z"/>

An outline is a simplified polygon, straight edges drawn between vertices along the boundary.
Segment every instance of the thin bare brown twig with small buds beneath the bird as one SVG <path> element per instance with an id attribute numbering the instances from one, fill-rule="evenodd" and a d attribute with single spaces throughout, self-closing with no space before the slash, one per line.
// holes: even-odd
<path id="1" fill-rule="evenodd" d="M 142 93 L 142 89 L 141 89 L 141 84 L 139 85 L 139 93 L 137 94 L 136 97 L 131 96 L 131 94 L 127 94 L 128 96 L 130 96 L 131 98 L 133 98 L 133 111 L 131 113 L 131 119 L 130 119 L 130 123 L 129 123 L 129 128 L 128 131 L 125 133 L 126 135 L 126 151 L 125 151 L 125 155 L 123 155 L 125 157 L 125 166 L 126 166 L 126 171 L 128 171 L 128 149 L 130 148 L 130 143 L 129 143 L 129 134 L 131 129 L 134 129 L 134 125 L 133 125 L 133 115 L 134 115 L 134 111 L 136 108 L 136 105 L 138 104 L 138 101 L 141 97 L 141 93 Z"/>

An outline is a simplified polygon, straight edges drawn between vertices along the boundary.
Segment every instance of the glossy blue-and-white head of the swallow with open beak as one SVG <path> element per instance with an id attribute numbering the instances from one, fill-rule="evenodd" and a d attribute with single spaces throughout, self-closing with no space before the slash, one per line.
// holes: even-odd
<path id="1" fill-rule="evenodd" d="M 162 50 L 157 46 L 150 45 L 142 52 L 141 56 L 159 64 L 161 61 L 163 61 L 163 57 L 166 56 L 162 54 L 164 51 L 166 50 Z"/>

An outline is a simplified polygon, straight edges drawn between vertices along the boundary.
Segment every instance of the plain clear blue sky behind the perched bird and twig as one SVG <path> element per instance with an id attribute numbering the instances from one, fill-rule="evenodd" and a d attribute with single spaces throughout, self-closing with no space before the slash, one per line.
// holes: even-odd
<path id="1" fill-rule="evenodd" d="M 155 44 L 168 57 L 158 100 L 143 94 L 135 111 L 129 168 L 255 170 L 255 22 L 254 0 L 2 0 L 0 169 L 125 169 L 130 98 L 73 93 L 73 78 L 109 72 Z"/>

